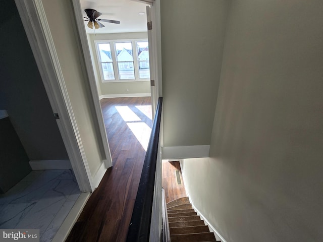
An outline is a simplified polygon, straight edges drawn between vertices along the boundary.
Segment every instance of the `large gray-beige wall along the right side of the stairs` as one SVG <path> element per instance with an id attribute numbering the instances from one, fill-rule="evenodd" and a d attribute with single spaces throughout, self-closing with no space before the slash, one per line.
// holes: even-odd
<path id="1" fill-rule="evenodd" d="M 322 12 L 320 0 L 232 1 L 211 158 L 182 162 L 227 242 L 322 240 Z"/>

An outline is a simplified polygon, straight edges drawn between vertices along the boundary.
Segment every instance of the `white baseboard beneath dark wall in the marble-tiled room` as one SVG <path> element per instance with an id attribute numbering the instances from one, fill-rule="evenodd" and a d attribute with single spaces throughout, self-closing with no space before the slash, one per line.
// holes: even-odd
<path id="1" fill-rule="evenodd" d="M 72 169 L 70 160 L 31 160 L 32 170 L 60 170 Z"/>

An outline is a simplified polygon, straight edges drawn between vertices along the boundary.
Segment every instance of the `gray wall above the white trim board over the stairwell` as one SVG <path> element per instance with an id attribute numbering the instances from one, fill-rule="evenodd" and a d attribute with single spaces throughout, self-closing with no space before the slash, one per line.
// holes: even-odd
<path id="1" fill-rule="evenodd" d="M 228 6 L 160 1 L 165 146 L 210 144 Z"/>

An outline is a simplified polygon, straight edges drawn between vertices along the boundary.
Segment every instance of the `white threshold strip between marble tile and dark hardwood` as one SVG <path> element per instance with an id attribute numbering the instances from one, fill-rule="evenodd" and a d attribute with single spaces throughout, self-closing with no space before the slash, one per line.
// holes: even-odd
<path id="1" fill-rule="evenodd" d="M 64 222 L 62 223 L 61 227 L 59 228 L 51 242 L 62 242 L 66 240 L 90 195 L 90 193 L 80 194 L 79 198 L 76 200 L 74 206 L 72 207 L 71 211 L 65 218 Z"/>

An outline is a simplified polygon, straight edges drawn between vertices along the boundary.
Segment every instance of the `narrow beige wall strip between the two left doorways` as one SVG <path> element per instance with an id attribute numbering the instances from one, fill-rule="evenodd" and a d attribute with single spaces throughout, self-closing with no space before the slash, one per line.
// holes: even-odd
<path id="1" fill-rule="evenodd" d="M 92 177 L 103 164 L 102 139 L 70 1 L 43 0 L 49 29 Z"/>

